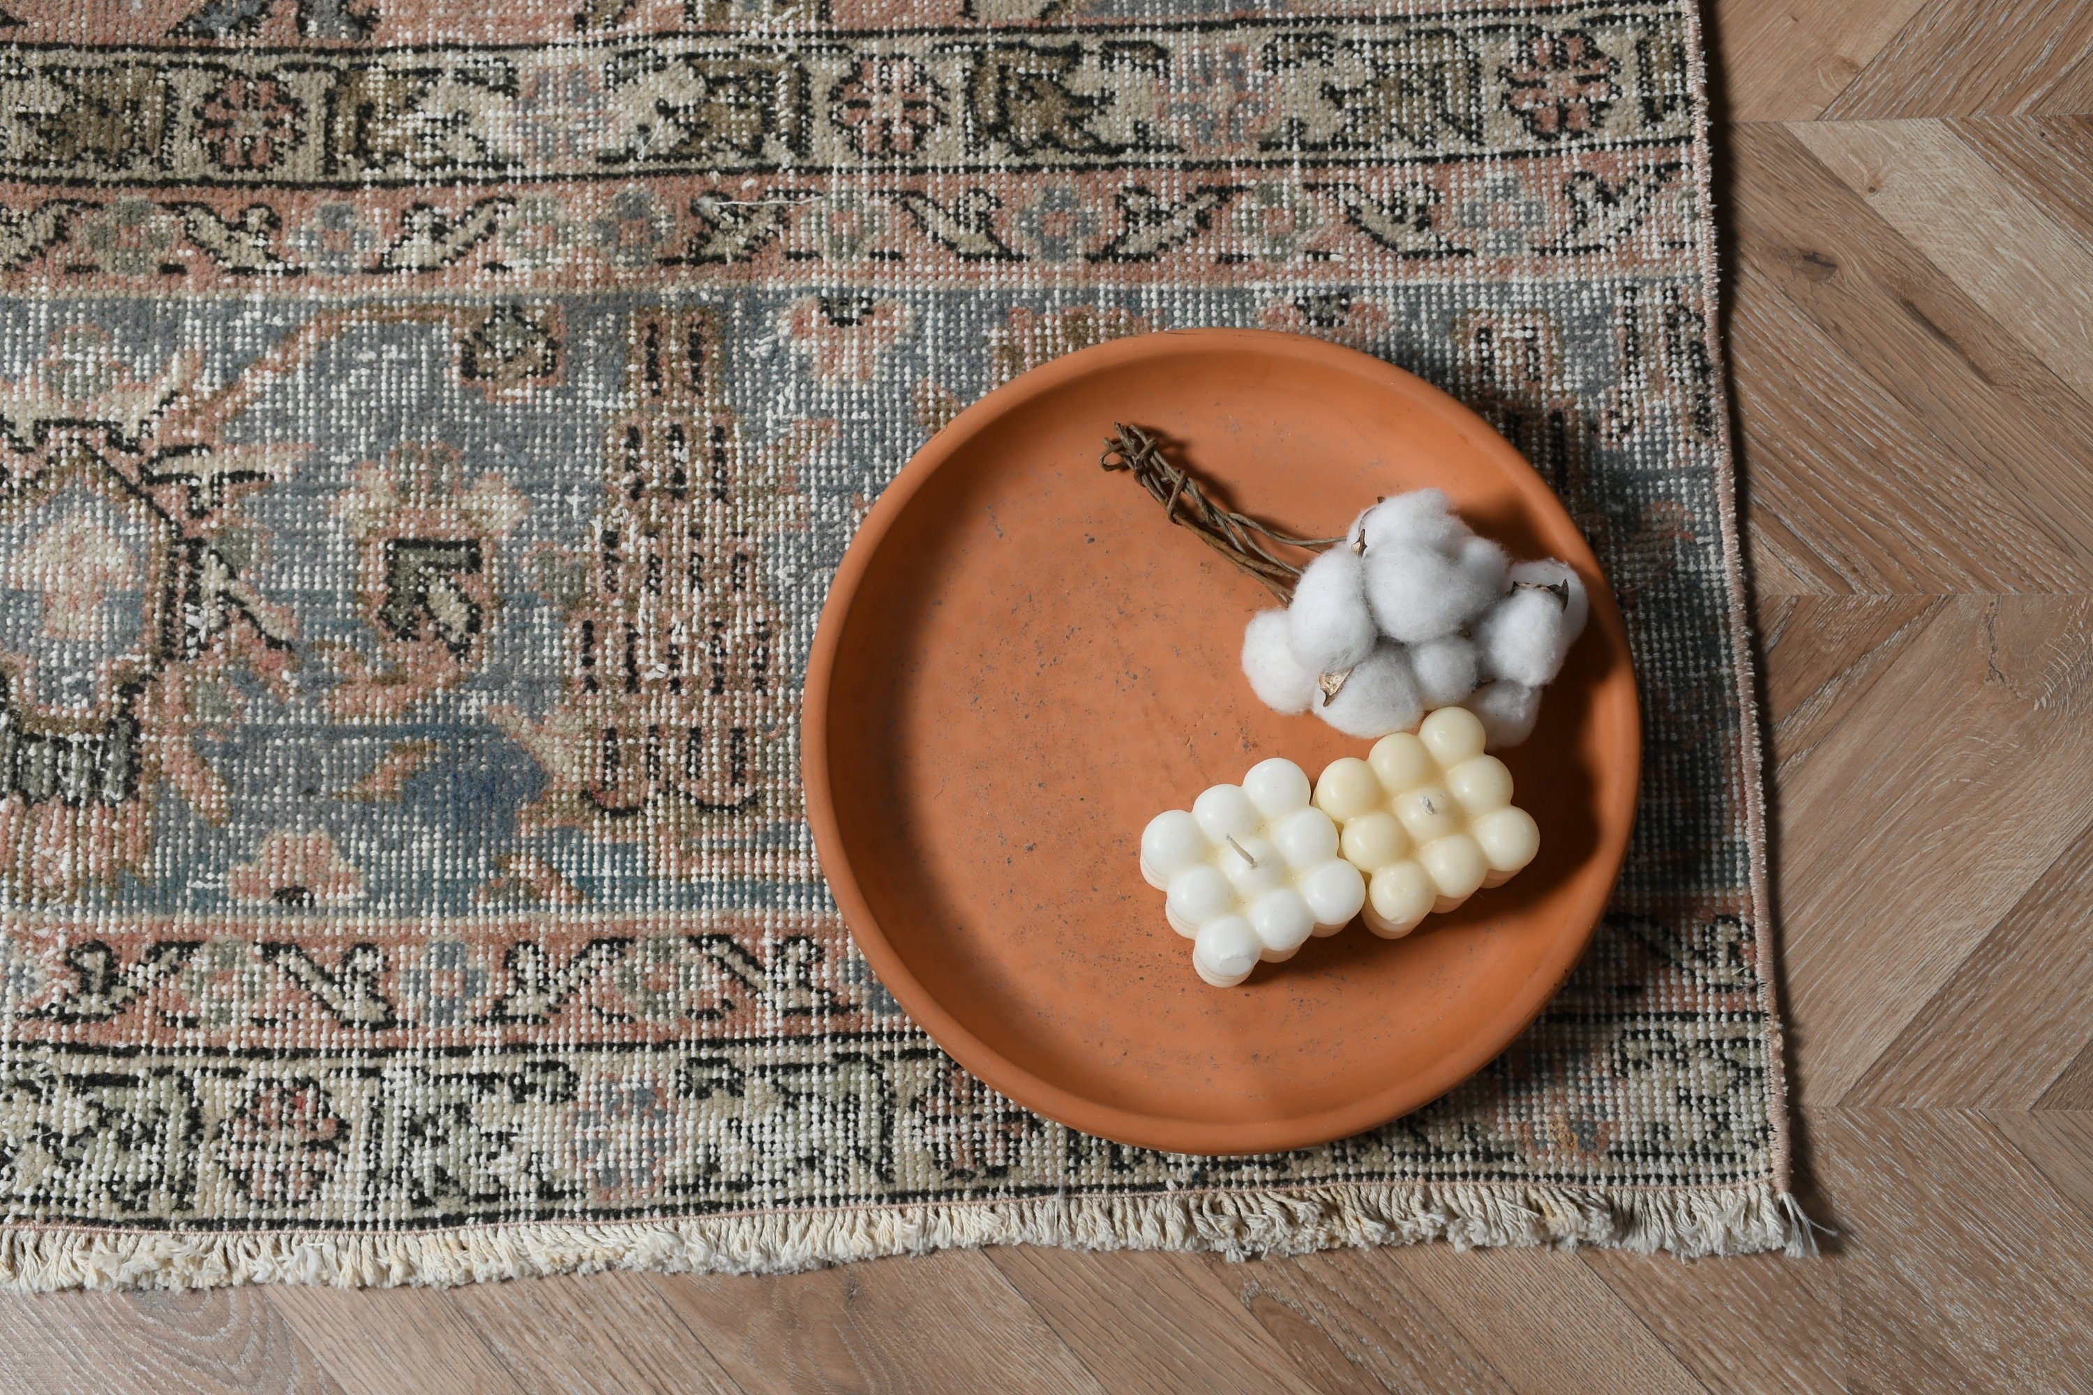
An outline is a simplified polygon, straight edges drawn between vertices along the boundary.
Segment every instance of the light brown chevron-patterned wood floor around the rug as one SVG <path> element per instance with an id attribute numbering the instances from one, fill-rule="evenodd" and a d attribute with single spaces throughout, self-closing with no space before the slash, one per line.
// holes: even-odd
<path id="1" fill-rule="evenodd" d="M 2093 6 L 1723 0 L 1815 1261 L 1009 1249 L 0 1301 L 8 1391 L 2093 1389 Z"/>

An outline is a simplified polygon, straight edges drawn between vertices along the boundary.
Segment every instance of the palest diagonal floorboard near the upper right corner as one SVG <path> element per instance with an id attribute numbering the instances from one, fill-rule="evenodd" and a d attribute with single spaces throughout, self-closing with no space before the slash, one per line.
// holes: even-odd
<path id="1" fill-rule="evenodd" d="M 2093 395 L 2093 249 L 1940 121 L 1790 130 L 2060 379 Z"/>

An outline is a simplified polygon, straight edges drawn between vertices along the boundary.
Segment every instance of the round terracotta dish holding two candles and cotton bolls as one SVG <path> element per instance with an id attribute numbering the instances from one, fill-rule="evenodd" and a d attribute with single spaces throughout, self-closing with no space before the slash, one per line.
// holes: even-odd
<path id="1" fill-rule="evenodd" d="M 1235 508 L 1342 531 L 1444 487 L 1513 556 L 1584 573 L 1593 619 L 1503 753 L 1540 857 L 1402 941 L 1363 924 L 1214 989 L 1139 872 L 1141 828 L 1285 755 L 1365 755 L 1237 667 L 1262 588 L 1097 454 L 1162 431 Z M 1584 950 L 1635 816 L 1626 634 L 1591 548 L 1482 418 L 1293 335 L 1193 330 L 1023 374 L 925 445 L 837 571 L 806 682 L 806 795 L 864 956 L 969 1071 L 1072 1127 L 1183 1152 L 1354 1134 L 1501 1052 Z"/>

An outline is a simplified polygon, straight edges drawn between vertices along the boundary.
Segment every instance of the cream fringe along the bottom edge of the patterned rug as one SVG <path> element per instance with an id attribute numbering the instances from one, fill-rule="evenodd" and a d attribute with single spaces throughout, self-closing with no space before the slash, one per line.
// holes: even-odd
<path id="1" fill-rule="evenodd" d="M 1766 1182 L 1676 1190 L 1350 1184 L 377 1234 L 19 1226 L 0 1232 L 0 1288 L 360 1288 L 597 1270 L 781 1274 L 980 1244 L 1218 1251 L 1247 1259 L 1417 1240 L 1448 1240 L 1455 1249 L 1607 1244 L 1687 1257 L 1817 1249 L 1794 1196 Z"/>

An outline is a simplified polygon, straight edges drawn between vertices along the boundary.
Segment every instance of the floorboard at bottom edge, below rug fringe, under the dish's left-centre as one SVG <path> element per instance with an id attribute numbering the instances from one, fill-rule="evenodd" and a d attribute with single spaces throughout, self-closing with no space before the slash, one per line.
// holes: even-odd
<path id="1" fill-rule="evenodd" d="M 996 1270 L 1107 1391 L 1310 1391 L 1210 1255 L 1009 1247 Z"/>

